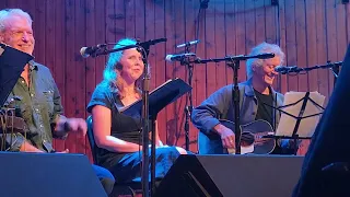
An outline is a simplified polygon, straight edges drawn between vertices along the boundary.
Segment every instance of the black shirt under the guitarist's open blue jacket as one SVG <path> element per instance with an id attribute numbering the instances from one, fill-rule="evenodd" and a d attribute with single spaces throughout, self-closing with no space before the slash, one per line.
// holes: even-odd
<path id="1" fill-rule="evenodd" d="M 271 92 L 269 94 L 261 94 L 260 92 L 254 90 L 254 93 L 258 100 L 258 112 L 256 114 L 255 119 L 264 119 L 268 121 L 273 128 L 273 109 L 272 107 L 270 107 L 273 106 L 273 97 Z"/>

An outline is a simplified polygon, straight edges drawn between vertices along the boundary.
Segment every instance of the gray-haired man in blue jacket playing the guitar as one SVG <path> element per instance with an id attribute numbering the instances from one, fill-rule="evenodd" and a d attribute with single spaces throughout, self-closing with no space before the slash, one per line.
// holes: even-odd
<path id="1" fill-rule="evenodd" d="M 240 125 L 262 119 L 272 127 L 271 129 L 275 129 L 279 123 L 280 113 L 270 106 L 281 106 L 283 95 L 277 93 L 271 85 L 278 74 L 275 68 L 283 63 L 284 54 L 277 45 L 261 43 L 252 49 L 250 55 L 262 53 L 273 53 L 275 57 L 249 59 L 246 62 L 248 80 L 238 84 Z M 222 154 L 235 148 L 234 131 L 220 121 L 221 119 L 234 121 L 232 89 L 232 85 L 221 88 L 192 111 L 191 120 L 200 130 L 198 136 L 200 154 Z M 280 147 L 283 149 L 279 149 Z M 290 153 L 289 147 L 289 140 L 281 140 L 275 152 Z"/>

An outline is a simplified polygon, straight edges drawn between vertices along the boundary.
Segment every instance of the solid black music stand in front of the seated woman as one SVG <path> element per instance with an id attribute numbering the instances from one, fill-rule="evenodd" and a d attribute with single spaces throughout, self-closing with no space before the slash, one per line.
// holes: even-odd
<path id="1" fill-rule="evenodd" d="M 151 121 L 152 134 L 155 134 L 155 120 L 158 114 L 166 107 L 168 104 L 175 102 L 177 99 L 188 93 L 192 88 L 179 78 L 167 80 L 165 83 L 153 90 L 149 95 L 149 117 Z M 120 113 L 138 117 L 142 113 L 142 100 L 135 102 L 133 104 L 121 108 Z M 143 134 L 143 131 L 142 131 Z M 155 144 L 154 142 L 152 144 Z M 153 149 L 154 150 L 154 149 Z M 151 154 L 152 160 L 155 160 L 155 154 Z M 152 163 L 154 164 L 155 161 Z M 155 165 L 151 166 L 151 190 L 154 192 L 154 172 Z"/>

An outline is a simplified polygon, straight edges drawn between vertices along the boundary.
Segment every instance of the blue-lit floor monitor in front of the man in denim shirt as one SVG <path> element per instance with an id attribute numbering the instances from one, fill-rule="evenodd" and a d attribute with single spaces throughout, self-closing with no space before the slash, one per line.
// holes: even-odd
<path id="1" fill-rule="evenodd" d="M 0 152 L 1 197 L 107 196 L 83 154 Z"/>

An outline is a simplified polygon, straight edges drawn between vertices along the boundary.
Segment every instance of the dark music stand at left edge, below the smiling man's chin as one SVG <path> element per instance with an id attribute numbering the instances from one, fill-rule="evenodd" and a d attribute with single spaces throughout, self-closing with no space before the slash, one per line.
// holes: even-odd
<path id="1" fill-rule="evenodd" d="M 25 65 L 34 57 L 0 43 L 0 107 L 19 80 Z"/>

